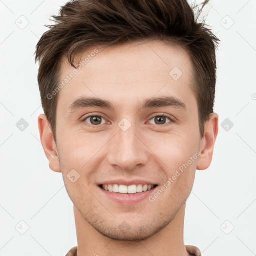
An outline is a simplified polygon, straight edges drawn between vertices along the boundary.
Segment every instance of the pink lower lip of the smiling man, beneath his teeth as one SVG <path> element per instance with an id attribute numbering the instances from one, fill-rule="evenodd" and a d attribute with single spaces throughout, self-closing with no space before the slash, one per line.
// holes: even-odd
<path id="1" fill-rule="evenodd" d="M 149 184 L 150 184 L 150 182 L 149 182 Z M 131 205 L 131 204 L 136 204 L 136 203 L 148 198 L 151 193 L 155 192 L 156 187 L 157 186 L 155 186 L 154 188 L 147 190 L 145 192 L 140 192 L 140 193 L 135 193 L 135 194 L 109 192 L 109 191 L 101 188 L 100 186 L 98 186 L 98 189 L 103 193 L 103 196 L 106 196 L 107 198 L 110 198 L 111 200 L 113 200 L 115 202 L 118 202 L 118 203 L 124 204 L 124 205 Z"/>

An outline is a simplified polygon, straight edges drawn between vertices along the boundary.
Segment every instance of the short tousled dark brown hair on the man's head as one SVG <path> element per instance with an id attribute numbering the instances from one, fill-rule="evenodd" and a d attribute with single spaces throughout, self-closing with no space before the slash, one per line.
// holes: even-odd
<path id="1" fill-rule="evenodd" d="M 202 8 L 208 0 L 202 3 Z M 95 44 L 122 44 L 156 39 L 182 46 L 190 55 L 198 104 L 200 135 L 213 112 L 216 84 L 215 47 L 219 39 L 198 22 L 202 8 L 194 9 L 186 0 L 72 0 L 53 15 L 56 24 L 38 41 L 35 60 L 39 60 L 38 83 L 42 107 L 56 141 L 58 94 L 47 95 L 58 85 L 60 59 L 74 65 L 74 54 Z"/>

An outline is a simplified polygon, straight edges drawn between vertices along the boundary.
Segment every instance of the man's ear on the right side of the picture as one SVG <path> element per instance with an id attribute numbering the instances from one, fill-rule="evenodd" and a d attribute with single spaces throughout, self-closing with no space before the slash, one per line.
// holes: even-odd
<path id="1" fill-rule="evenodd" d="M 211 113 L 210 119 L 204 124 L 204 137 L 200 141 L 201 155 L 198 157 L 197 161 L 198 170 L 205 170 L 210 166 L 217 134 L 218 115 Z"/>

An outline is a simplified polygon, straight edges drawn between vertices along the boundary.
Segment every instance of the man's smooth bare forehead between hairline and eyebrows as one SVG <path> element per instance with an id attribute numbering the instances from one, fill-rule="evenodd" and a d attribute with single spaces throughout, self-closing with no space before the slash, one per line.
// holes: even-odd
<path id="1" fill-rule="evenodd" d="M 192 63 L 181 46 L 160 41 L 99 45 L 76 54 L 75 60 L 80 67 L 59 92 L 61 107 L 80 96 L 108 99 L 124 107 L 153 96 L 191 100 Z M 74 68 L 63 58 L 59 82 L 71 73 Z"/>

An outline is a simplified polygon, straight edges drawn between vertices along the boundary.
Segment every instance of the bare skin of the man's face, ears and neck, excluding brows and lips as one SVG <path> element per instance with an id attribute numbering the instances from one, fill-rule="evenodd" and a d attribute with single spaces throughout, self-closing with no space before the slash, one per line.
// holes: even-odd
<path id="1" fill-rule="evenodd" d="M 84 59 L 94 48 L 77 56 Z M 38 117 L 49 167 L 62 173 L 74 204 L 78 256 L 189 255 L 183 242 L 185 202 L 196 169 L 211 163 L 218 115 L 211 114 L 201 138 L 191 59 L 183 48 L 155 40 L 97 48 L 100 52 L 59 92 L 56 143 L 46 116 Z M 183 72 L 176 81 L 169 75 L 175 66 Z M 63 58 L 59 81 L 72 70 Z M 181 100 L 186 110 L 173 106 L 137 110 L 145 99 L 166 95 Z M 108 100 L 116 110 L 82 107 L 71 113 L 69 106 L 79 96 Z M 159 124 L 156 118 L 163 113 L 176 121 L 166 118 Z M 90 114 L 103 117 L 98 128 L 85 119 Z M 127 131 L 118 126 L 122 118 L 131 123 Z M 107 179 L 141 178 L 160 188 L 197 151 L 200 156 L 154 202 L 146 198 L 120 204 L 97 186 Z M 72 169 L 80 175 L 74 183 L 67 177 Z M 118 228 L 123 221 L 130 227 L 126 231 Z"/>

